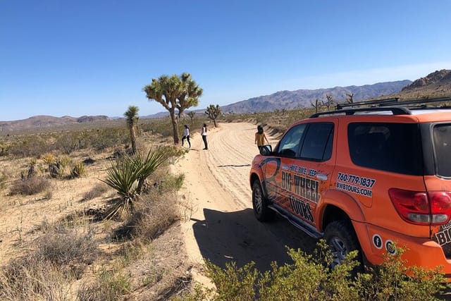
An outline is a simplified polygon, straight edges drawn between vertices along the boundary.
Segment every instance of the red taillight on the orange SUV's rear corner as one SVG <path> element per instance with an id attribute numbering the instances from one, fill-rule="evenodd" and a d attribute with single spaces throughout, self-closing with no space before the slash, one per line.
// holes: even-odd
<path id="1" fill-rule="evenodd" d="M 391 188 L 388 195 L 404 221 L 419 225 L 443 225 L 450 221 L 451 192 L 418 192 Z"/>

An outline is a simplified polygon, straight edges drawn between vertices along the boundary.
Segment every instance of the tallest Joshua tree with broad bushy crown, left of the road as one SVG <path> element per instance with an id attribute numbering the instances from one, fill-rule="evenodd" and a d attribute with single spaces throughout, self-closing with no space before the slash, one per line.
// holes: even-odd
<path id="1" fill-rule="evenodd" d="M 202 88 L 192 80 L 190 73 L 182 75 L 161 75 L 153 78 L 150 85 L 142 89 L 149 101 L 159 102 L 169 112 L 171 117 L 174 144 L 178 144 L 178 119 L 185 109 L 199 104 Z M 176 111 L 177 110 L 177 111 Z"/>

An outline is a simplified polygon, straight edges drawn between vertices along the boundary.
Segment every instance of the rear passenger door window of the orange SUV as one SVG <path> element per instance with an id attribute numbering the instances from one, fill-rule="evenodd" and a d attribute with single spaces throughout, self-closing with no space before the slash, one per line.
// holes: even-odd
<path id="1" fill-rule="evenodd" d="M 310 123 L 301 149 L 301 158 L 326 161 L 332 156 L 333 123 Z"/>

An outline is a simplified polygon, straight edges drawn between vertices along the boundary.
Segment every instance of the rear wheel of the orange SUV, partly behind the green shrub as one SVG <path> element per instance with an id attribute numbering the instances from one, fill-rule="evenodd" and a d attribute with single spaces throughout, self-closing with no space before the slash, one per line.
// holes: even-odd
<path id="1" fill-rule="evenodd" d="M 332 268 L 337 264 L 341 264 L 348 253 L 357 250 L 359 253 L 355 260 L 359 262 L 359 266 L 354 269 L 354 272 L 362 271 L 362 249 L 351 221 L 341 220 L 329 223 L 324 231 L 324 239 L 330 247 L 330 252 L 332 252 Z"/>

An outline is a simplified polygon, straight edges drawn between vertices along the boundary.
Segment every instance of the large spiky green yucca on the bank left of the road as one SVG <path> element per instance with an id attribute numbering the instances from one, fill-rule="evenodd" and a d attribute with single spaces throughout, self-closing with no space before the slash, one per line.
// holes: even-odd
<path id="1" fill-rule="evenodd" d="M 111 164 L 106 180 L 102 182 L 115 189 L 121 198 L 106 214 L 106 219 L 132 211 L 133 203 L 139 199 L 145 180 L 168 159 L 164 149 L 149 150 L 147 156 L 123 156 Z"/>

